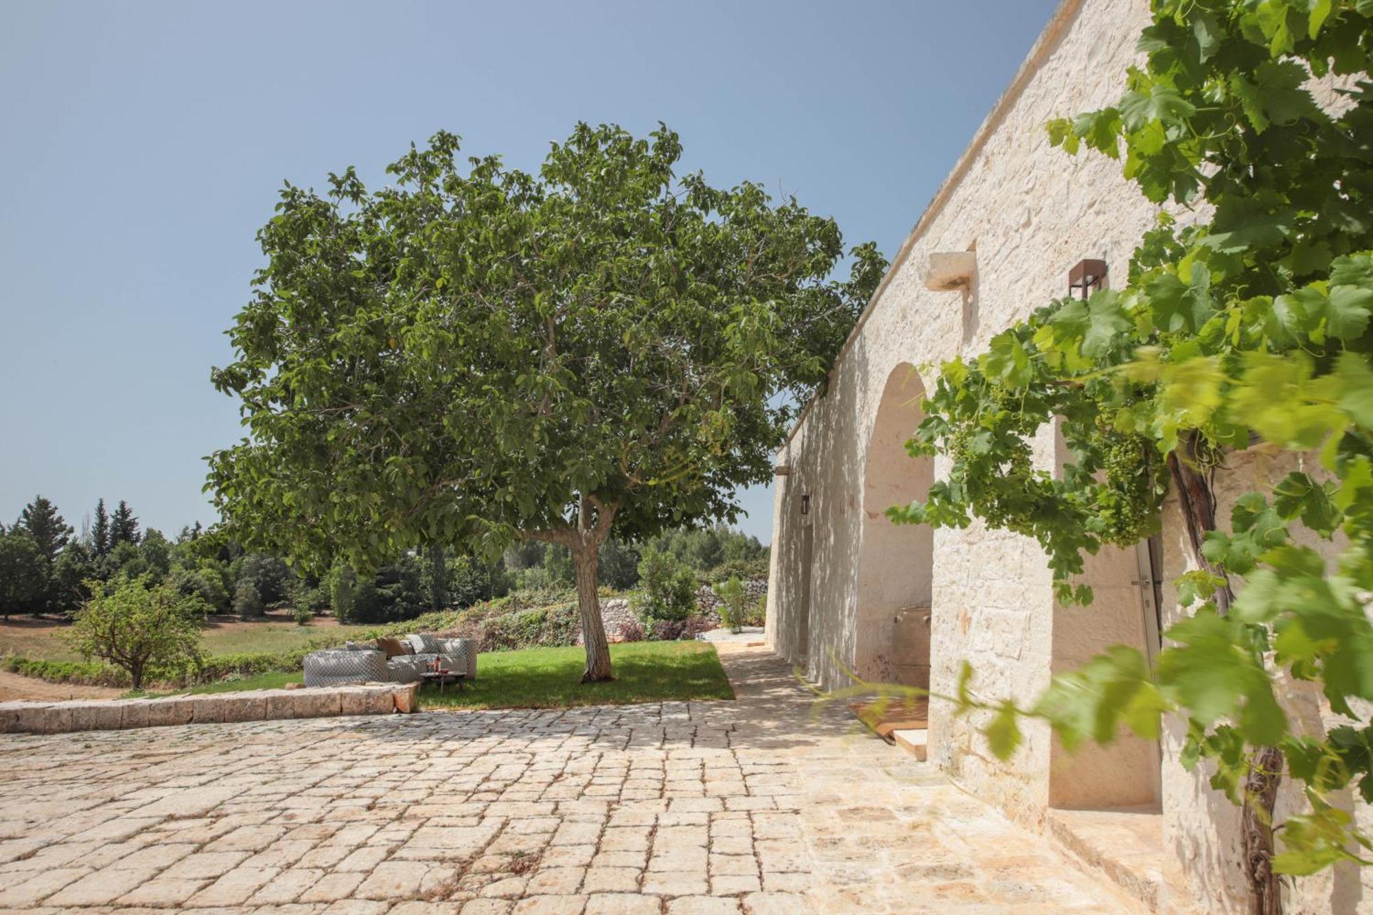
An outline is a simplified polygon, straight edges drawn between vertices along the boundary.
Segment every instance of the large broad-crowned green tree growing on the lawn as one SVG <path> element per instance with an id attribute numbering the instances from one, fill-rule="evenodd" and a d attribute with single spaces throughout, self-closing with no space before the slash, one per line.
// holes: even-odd
<path id="1" fill-rule="evenodd" d="M 247 427 L 210 458 L 233 536 L 314 567 L 560 544 L 608 679 L 597 547 L 732 521 L 886 267 L 864 245 L 829 279 L 833 220 L 680 157 L 582 124 L 530 174 L 438 133 L 393 187 L 288 184 L 213 375 Z"/>

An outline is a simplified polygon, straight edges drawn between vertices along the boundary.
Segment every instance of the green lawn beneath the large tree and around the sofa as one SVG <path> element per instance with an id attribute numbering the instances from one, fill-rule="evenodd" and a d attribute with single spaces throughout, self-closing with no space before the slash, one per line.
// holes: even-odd
<path id="1" fill-rule="evenodd" d="M 573 648 L 494 651 L 476 659 L 476 680 L 461 690 L 449 684 L 420 687 L 424 708 L 555 709 L 574 705 L 621 705 L 680 699 L 733 699 L 715 647 L 703 642 L 634 642 L 612 644 L 615 679 L 578 683 L 586 654 Z M 198 686 L 181 692 L 273 690 L 299 683 L 299 673 L 262 673 Z M 177 695 L 180 695 L 178 692 Z M 172 694 L 159 694 L 172 695 Z"/>

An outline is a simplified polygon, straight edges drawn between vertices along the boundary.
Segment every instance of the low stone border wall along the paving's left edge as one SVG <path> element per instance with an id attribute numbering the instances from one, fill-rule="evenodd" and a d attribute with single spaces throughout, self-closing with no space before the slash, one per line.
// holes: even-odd
<path id="1" fill-rule="evenodd" d="M 211 692 L 165 699 L 0 702 L 0 734 L 70 734 L 192 723 L 411 713 L 419 709 L 417 688 L 416 683 L 386 683 Z"/>

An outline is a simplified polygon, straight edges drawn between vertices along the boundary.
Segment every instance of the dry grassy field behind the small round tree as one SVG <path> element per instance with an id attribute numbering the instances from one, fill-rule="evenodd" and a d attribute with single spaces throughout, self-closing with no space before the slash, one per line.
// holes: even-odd
<path id="1" fill-rule="evenodd" d="M 265 618 L 242 622 L 233 617 L 210 617 L 205 625 L 202 647 L 206 654 L 243 654 L 249 651 L 288 651 L 324 636 L 349 637 L 369 632 L 375 625 L 339 625 L 334 617 L 316 617 L 308 626 L 298 626 L 286 610 L 273 610 Z M 14 617 L 0 621 L 0 654 L 14 654 L 34 661 L 80 661 L 62 640 L 65 622 Z"/>

